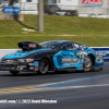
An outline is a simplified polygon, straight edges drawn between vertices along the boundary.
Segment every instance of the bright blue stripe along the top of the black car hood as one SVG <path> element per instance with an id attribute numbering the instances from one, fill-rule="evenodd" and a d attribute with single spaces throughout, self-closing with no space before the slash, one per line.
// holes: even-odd
<path id="1" fill-rule="evenodd" d="M 28 55 L 32 55 L 32 53 L 35 53 L 35 52 L 38 52 L 38 51 L 44 51 L 44 50 L 48 50 L 48 49 L 37 49 L 37 50 L 32 50 L 32 51 L 16 51 L 16 52 L 7 55 L 4 58 L 9 58 L 9 59 L 24 58 Z"/>

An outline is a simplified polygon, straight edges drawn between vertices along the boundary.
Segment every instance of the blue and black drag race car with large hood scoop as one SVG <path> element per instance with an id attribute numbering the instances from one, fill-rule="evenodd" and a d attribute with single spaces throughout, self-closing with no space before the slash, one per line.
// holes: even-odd
<path id="1" fill-rule="evenodd" d="M 92 71 L 104 65 L 102 56 L 85 45 L 69 40 L 52 40 L 41 44 L 21 41 L 20 50 L 0 60 L 0 71 L 16 75 L 21 71 Z"/>

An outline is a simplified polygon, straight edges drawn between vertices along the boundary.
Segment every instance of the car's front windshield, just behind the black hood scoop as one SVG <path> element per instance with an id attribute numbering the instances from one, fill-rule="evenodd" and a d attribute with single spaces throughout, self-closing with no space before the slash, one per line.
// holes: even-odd
<path id="1" fill-rule="evenodd" d="M 43 48 L 56 49 L 59 46 L 59 43 L 57 43 L 57 41 L 47 41 L 47 43 L 43 43 L 43 44 L 39 44 L 39 45 L 43 46 Z"/>

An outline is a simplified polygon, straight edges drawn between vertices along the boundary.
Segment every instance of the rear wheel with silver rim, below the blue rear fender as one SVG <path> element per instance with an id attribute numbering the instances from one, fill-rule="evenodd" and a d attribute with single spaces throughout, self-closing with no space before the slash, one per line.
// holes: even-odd
<path id="1" fill-rule="evenodd" d="M 92 60 L 92 58 L 89 56 L 84 58 L 83 71 L 84 72 L 93 71 L 93 60 Z"/>

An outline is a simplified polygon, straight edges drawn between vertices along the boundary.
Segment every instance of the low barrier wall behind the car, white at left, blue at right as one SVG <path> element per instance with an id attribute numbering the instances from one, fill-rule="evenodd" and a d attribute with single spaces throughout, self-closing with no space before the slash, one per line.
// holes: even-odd
<path id="1" fill-rule="evenodd" d="M 109 47 L 90 47 L 90 48 L 102 55 L 105 61 L 109 61 Z M 15 52 L 17 50 L 20 49 L 0 49 L 0 58 L 4 57 L 8 53 Z"/>

